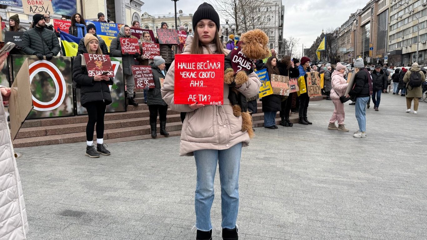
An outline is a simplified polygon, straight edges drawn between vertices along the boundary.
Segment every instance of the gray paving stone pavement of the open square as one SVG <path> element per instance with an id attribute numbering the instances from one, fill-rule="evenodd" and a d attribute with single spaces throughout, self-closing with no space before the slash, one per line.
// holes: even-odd
<path id="1" fill-rule="evenodd" d="M 310 103 L 312 126 L 257 128 L 240 170 L 241 240 L 427 239 L 427 103 L 405 113 L 383 94 L 367 109 L 367 137 L 328 130 L 331 101 Z M 29 240 L 194 240 L 194 159 L 179 137 L 110 144 L 90 159 L 85 143 L 16 149 Z M 212 207 L 221 232 L 219 176 Z"/>

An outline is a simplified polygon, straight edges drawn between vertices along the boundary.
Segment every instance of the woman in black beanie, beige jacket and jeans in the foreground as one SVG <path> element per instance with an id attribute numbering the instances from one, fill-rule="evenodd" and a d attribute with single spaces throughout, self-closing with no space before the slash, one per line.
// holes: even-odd
<path id="1" fill-rule="evenodd" d="M 189 36 L 182 54 L 229 53 L 219 38 L 219 16 L 215 9 L 203 3 L 193 15 L 194 36 Z M 228 100 L 230 87 L 224 84 L 224 105 L 174 104 L 175 61 L 166 74 L 161 93 L 163 100 L 175 111 L 187 112 L 181 131 L 181 156 L 196 160 L 196 228 L 197 240 L 212 239 L 211 207 L 213 180 L 219 164 L 222 201 L 222 237 L 237 240 L 237 211 L 239 208 L 239 170 L 242 146 L 249 145 L 249 134 L 242 131 L 242 117 L 235 117 Z M 235 88 L 246 97 L 259 91 L 261 82 L 255 73 Z"/>

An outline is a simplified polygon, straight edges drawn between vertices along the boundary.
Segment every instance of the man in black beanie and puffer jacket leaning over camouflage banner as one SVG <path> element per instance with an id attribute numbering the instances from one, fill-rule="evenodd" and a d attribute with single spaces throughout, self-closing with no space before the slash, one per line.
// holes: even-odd
<path id="1" fill-rule="evenodd" d="M 46 60 L 50 60 L 61 50 L 58 38 L 54 32 L 45 29 L 43 15 L 35 14 L 32 20 L 34 28 L 22 35 L 22 51 L 27 55 L 35 55 L 40 60 L 43 60 L 43 56 L 46 56 Z"/>

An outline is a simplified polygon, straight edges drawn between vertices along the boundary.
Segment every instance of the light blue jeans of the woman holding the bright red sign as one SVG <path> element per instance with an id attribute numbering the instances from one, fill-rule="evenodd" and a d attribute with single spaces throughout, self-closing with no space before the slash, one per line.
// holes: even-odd
<path id="1" fill-rule="evenodd" d="M 239 170 L 242 143 L 229 149 L 203 149 L 194 151 L 197 169 L 195 196 L 196 228 L 210 231 L 211 208 L 213 202 L 213 180 L 216 164 L 219 164 L 219 181 L 221 183 L 222 228 L 236 227 L 239 211 Z"/>

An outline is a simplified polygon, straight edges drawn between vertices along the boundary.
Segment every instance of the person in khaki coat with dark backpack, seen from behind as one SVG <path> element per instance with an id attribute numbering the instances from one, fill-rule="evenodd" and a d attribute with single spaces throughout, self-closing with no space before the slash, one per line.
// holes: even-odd
<path id="1" fill-rule="evenodd" d="M 414 114 L 418 111 L 418 101 L 422 97 L 422 83 L 426 81 L 426 76 L 421 71 L 418 63 L 414 62 L 410 70 L 403 77 L 406 83 L 406 112 L 411 112 L 412 100 L 414 100 Z"/>

